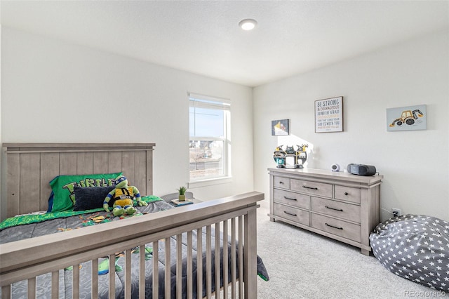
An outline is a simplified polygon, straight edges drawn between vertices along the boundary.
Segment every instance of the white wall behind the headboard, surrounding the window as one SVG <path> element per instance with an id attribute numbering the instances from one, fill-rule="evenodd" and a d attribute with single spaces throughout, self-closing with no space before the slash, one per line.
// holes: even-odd
<path id="1" fill-rule="evenodd" d="M 155 142 L 154 194 L 173 193 L 189 180 L 187 92 L 229 98 L 234 178 L 191 191 L 208 200 L 253 190 L 252 88 L 7 27 L 1 34 L 2 142 Z"/>

